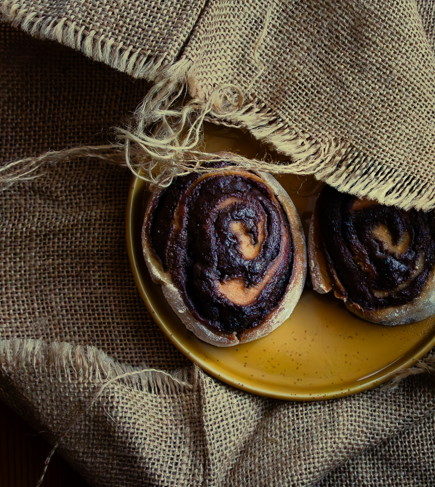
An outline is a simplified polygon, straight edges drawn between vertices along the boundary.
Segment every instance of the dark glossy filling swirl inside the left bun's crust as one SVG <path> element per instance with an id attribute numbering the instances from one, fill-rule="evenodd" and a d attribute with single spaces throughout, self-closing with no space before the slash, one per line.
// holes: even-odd
<path id="1" fill-rule="evenodd" d="M 177 178 L 154 203 L 152 246 L 193 316 L 219 331 L 258 326 L 292 269 L 287 218 L 255 174 Z"/>

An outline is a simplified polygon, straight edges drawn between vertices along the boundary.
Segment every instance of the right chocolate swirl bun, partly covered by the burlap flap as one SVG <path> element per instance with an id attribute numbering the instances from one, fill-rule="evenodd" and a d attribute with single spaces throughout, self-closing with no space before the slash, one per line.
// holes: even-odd
<path id="1" fill-rule="evenodd" d="M 311 281 L 375 323 L 435 314 L 434 214 L 404 211 L 323 187 L 308 237 Z"/>

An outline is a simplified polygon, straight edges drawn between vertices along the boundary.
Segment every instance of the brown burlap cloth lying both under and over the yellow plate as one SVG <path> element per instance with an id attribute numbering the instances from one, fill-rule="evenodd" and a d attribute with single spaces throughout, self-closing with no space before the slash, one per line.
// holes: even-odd
<path id="1" fill-rule="evenodd" d="M 206 99 L 223 81 L 248 88 L 250 108 L 240 110 L 253 116 L 250 129 L 259 137 L 269 130 L 273 139 L 285 118 L 281 135 L 290 135 L 281 137 L 281 149 L 294 149 L 294 168 L 306 163 L 307 171 L 315 160 L 318 177 L 336 178 L 341 187 L 355 189 L 359 175 L 378 181 L 379 194 L 403 206 L 413 195 L 416 206 L 431 207 L 433 8 L 423 1 L 319 8 L 316 2 L 6 0 L 9 22 L 70 47 L 0 25 L 2 163 L 107 144 L 108 129 L 150 88 L 113 68 L 161 83 L 162 66 L 190 56 L 184 79 L 192 96 Z M 225 42 L 215 42 L 218 31 Z M 301 36 L 305 46 L 296 43 Z M 295 45 L 283 51 L 283 38 Z M 276 57 L 265 59 L 270 52 Z M 219 71 L 210 68 L 216 58 L 227 59 Z M 278 62 L 284 80 L 271 75 Z M 338 63 L 346 76 L 337 77 Z M 181 86 L 179 79 L 170 82 Z M 311 85 L 318 97 L 309 95 Z M 349 114 L 345 93 L 366 115 L 357 108 Z M 271 115 L 259 125 L 262 110 Z M 237 122 L 240 112 L 233 115 Z M 323 149 L 328 139 L 363 156 L 345 158 L 342 167 L 334 157 L 319 159 L 319 152 L 298 159 L 299 146 L 284 147 L 290 139 L 295 147 L 303 139 Z M 382 186 L 385 174 L 396 186 Z M 399 177 L 404 186 L 396 191 Z M 435 485 L 434 356 L 395 389 L 325 402 L 259 397 L 204 374 L 170 345 L 135 288 L 125 246 L 130 180 L 128 169 L 82 159 L 49 165 L 37 179 L 1 192 L 3 400 L 46 431 L 95 486 Z"/>

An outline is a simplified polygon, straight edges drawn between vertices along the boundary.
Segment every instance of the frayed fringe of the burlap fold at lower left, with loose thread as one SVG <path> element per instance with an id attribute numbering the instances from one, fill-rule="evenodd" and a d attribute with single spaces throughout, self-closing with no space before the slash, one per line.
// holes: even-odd
<path id="1" fill-rule="evenodd" d="M 197 368 L 194 367 L 194 377 Z M 69 432 L 82 421 L 84 414 L 91 410 L 108 386 L 124 384 L 151 394 L 177 395 L 184 390 L 192 391 L 193 385 L 187 380 L 192 371 L 181 369 L 173 374 L 157 369 L 139 369 L 119 363 L 94 346 L 71 345 L 67 342 L 46 343 L 42 339 L 0 340 L 0 372 L 3 379 L 17 373 L 27 376 L 27 380 L 48 381 L 53 383 L 75 382 L 78 387 L 90 387 L 83 396 L 83 403 L 77 402 L 76 410 L 62 427 L 62 432 L 55 434 L 53 448 L 47 455 L 37 487 L 44 479 L 49 463 L 55 451 L 67 439 Z M 85 396 L 89 397 L 86 398 Z M 32 400 L 36 398 L 32 398 Z M 30 404 L 33 411 L 34 404 Z M 110 415 L 109 415 L 110 416 Z M 32 422 L 35 418 L 28 417 Z"/>

